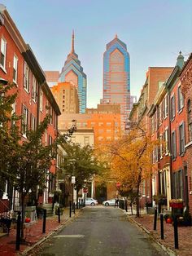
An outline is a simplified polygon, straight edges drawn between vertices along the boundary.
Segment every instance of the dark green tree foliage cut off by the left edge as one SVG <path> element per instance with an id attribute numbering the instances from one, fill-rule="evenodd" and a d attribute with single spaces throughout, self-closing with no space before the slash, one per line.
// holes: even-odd
<path id="1" fill-rule="evenodd" d="M 5 190 L 5 184 L 12 184 L 15 179 L 15 175 L 12 174 L 12 166 L 15 164 L 13 157 L 20 141 L 20 132 L 16 126 L 20 117 L 13 113 L 12 108 L 17 93 L 10 94 L 14 89 L 14 84 L 0 83 L 0 198 Z"/>

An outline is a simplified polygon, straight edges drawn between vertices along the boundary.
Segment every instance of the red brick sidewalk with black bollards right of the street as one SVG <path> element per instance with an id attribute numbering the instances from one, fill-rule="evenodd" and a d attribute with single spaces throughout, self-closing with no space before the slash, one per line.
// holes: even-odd
<path id="1" fill-rule="evenodd" d="M 174 249 L 174 230 L 172 224 L 164 222 L 164 240 L 160 239 L 160 220 L 157 221 L 157 230 L 154 231 L 154 215 L 143 214 L 141 218 L 129 216 L 134 223 L 138 223 L 150 232 L 151 236 L 166 248 L 171 249 L 178 256 L 192 255 L 192 227 L 178 227 L 179 249 Z"/>

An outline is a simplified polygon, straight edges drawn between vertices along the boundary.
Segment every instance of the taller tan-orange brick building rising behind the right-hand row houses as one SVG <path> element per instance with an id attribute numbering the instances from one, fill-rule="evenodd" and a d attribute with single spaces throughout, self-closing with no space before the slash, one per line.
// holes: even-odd
<path id="1" fill-rule="evenodd" d="M 151 135 L 152 139 L 157 139 L 158 135 L 153 131 L 151 132 L 151 117 L 148 113 L 151 110 L 151 105 L 154 102 L 155 95 L 157 95 L 159 88 L 168 79 L 168 76 L 172 72 L 172 68 L 169 67 L 150 67 L 146 73 L 146 82 L 142 86 L 141 95 L 138 102 L 133 104 L 132 111 L 129 115 L 131 122 L 137 122 L 138 126 L 144 127 L 148 136 Z M 154 108 L 155 109 L 155 108 Z M 156 114 L 155 114 L 156 115 Z M 153 130 L 156 130 L 157 122 L 153 119 Z M 153 160 L 157 158 L 157 148 L 154 150 Z M 152 196 L 157 189 L 155 183 L 157 183 L 155 170 L 157 165 L 154 166 L 153 179 L 143 179 L 141 186 L 141 207 L 152 201 Z"/>

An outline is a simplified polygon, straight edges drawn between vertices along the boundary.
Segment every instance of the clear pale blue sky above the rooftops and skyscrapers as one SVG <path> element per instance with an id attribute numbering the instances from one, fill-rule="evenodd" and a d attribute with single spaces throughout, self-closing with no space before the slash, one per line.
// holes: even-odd
<path id="1" fill-rule="evenodd" d="M 75 51 L 87 75 L 87 107 L 103 97 L 103 53 L 115 35 L 130 55 L 131 95 L 140 95 L 148 67 L 173 67 L 192 50 L 191 0 L 0 0 L 43 70 L 61 71 Z"/>

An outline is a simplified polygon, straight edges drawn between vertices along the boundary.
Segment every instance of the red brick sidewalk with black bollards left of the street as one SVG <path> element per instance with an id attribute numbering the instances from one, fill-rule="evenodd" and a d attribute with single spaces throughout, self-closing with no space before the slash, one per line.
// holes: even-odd
<path id="1" fill-rule="evenodd" d="M 80 210 L 76 210 L 78 214 Z M 75 214 L 72 214 L 72 218 L 75 217 Z M 46 236 L 49 236 L 50 233 L 55 232 L 59 227 L 63 226 L 69 218 L 68 210 L 65 209 L 64 214 L 60 216 L 60 223 L 58 223 L 58 216 L 54 215 L 52 217 L 46 218 L 46 233 L 42 233 L 42 219 L 38 219 L 37 223 L 24 228 L 24 245 L 20 245 L 20 252 L 24 252 L 25 249 L 30 248 L 35 245 L 38 241 L 41 241 Z M 11 229 L 9 236 L 2 236 L 0 238 L 0 255 L 1 256 L 15 256 L 20 255 L 20 252 L 15 250 L 15 238 L 16 230 Z"/>

